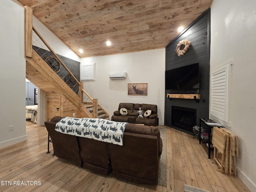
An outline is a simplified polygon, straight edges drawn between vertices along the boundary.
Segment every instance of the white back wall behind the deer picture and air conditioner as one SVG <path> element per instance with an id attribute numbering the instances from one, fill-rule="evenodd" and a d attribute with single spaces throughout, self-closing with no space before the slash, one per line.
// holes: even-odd
<path id="1" fill-rule="evenodd" d="M 164 124 L 165 48 L 81 58 L 81 63 L 96 62 L 94 81 L 85 81 L 84 90 L 112 116 L 120 102 L 156 104 L 159 124 Z M 111 80 L 109 72 L 127 72 L 127 79 Z M 128 83 L 148 83 L 147 96 L 128 96 Z"/>

